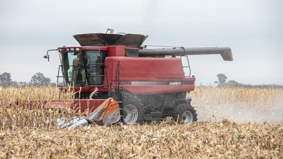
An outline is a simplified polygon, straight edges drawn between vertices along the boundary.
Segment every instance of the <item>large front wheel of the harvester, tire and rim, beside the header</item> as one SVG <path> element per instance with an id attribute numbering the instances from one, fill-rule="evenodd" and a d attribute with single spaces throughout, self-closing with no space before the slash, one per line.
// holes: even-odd
<path id="1" fill-rule="evenodd" d="M 141 100 L 133 94 L 124 94 L 123 124 L 143 124 L 144 110 Z"/>

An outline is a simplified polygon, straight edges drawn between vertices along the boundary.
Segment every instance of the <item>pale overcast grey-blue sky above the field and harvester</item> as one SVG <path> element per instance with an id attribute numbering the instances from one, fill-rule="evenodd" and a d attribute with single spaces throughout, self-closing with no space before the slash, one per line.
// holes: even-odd
<path id="1" fill-rule="evenodd" d="M 57 81 L 61 46 L 84 33 L 149 35 L 146 45 L 230 47 L 220 55 L 188 56 L 197 85 L 222 73 L 243 84 L 283 85 L 283 1 L 2 1 L 0 74 L 29 82 L 37 73 Z"/>

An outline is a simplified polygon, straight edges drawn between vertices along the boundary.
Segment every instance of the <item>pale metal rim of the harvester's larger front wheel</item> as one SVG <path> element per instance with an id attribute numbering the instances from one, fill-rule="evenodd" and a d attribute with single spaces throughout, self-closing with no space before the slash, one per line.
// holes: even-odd
<path id="1" fill-rule="evenodd" d="M 138 112 L 134 105 L 129 104 L 124 108 L 124 122 L 133 124 L 137 120 Z"/>

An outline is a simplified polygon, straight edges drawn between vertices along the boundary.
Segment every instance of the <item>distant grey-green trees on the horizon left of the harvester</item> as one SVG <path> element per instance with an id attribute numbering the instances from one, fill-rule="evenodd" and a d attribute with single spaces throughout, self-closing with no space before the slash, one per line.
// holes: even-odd
<path id="1" fill-rule="evenodd" d="M 29 82 L 16 82 L 12 80 L 10 73 L 4 72 L 0 75 L 0 85 L 7 86 L 56 86 L 57 84 L 51 82 L 51 78 L 45 77 L 42 73 L 38 72 L 31 77 Z"/>

